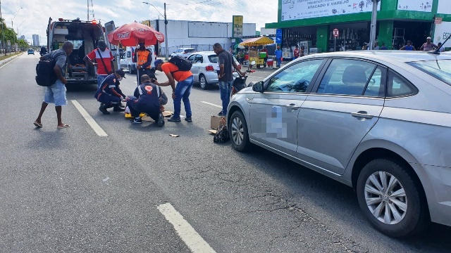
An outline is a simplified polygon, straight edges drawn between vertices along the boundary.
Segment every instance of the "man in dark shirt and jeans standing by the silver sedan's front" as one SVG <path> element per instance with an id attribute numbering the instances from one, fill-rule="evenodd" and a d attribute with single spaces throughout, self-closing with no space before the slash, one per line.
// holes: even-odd
<path id="1" fill-rule="evenodd" d="M 218 113 L 218 116 L 226 116 L 227 115 L 227 107 L 230 101 L 230 92 L 233 84 L 233 69 L 232 66 L 240 73 L 242 76 L 245 73 L 240 71 L 235 60 L 233 60 L 233 56 L 228 51 L 225 51 L 221 44 L 215 43 L 213 46 L 213 51 L 218 55 L 218 63 L 219 63 L 219 91 L 221 93 L 221 100 L 223 102 L 223 110 Z"/>

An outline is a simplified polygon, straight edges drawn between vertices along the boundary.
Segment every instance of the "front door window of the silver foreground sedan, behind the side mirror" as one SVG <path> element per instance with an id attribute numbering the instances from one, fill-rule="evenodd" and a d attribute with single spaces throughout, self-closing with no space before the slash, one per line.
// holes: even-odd
<path id="1" fill-rule="evenodd" d="M 323 60 L 305 60 L 278 72 L 268 82 L 267 91 L 305 92 Z"/>

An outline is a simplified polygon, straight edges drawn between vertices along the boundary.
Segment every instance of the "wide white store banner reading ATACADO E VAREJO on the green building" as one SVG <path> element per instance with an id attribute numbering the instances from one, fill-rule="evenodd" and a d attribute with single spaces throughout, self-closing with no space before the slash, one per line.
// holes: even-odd
<path id="1" fill-rule="evenodd" d="M 378 4 L 378 11 L 381 4 Z M 373 11 L 371 0 L 282 0 L 281 21 Z"/>

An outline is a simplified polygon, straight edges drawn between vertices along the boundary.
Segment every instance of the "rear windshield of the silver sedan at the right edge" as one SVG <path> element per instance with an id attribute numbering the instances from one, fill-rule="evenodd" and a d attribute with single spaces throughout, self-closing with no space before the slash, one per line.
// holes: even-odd
<path id="1" fill-rule="evenodd" d="M 424 60 L 407 64 L 451 85 L 451 60 Z"/>

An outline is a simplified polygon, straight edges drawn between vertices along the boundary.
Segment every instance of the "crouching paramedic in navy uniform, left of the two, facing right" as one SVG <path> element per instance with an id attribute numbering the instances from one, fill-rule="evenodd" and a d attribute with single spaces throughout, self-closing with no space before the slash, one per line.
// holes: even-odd
<path id="1" fill-rule="evenodd" d="M 108 108 L 113 108 L 113 112 L 125 111 L 120 105 L 121 97 L 125 99 L 126 96 L 122 93 L 121 89 L 119 89 L 119 84 L 121 84 L 120 81 L 124 76 L 125 72 L 123 70 L 116 70 L 116 72 L 106 77 L 101 83 L 100 88 L 97 89 L 94 98 L 97 98 L 97 101 L 101 103 L 99 111 L 104 115 L 110 114 L 110 112 L 106 110 Z"/>

